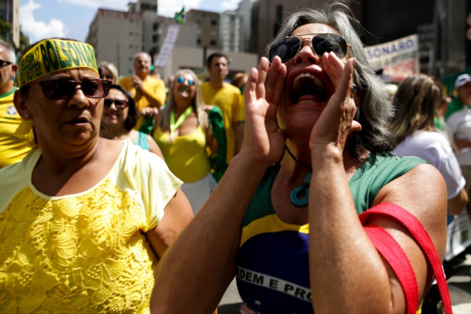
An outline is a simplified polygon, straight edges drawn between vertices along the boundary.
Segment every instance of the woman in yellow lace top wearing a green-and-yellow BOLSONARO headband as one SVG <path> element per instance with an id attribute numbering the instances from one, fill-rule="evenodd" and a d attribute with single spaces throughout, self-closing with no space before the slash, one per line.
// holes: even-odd
<path id="1" fill-rule="evenodd" d="M 99 136 L 110 83 L 92 46 L 45 39 L 18 65 L 18 132 L 38 149 L 0 170 L 0 309 L 149 312 L 157 262 L 193 216 L 181 181 Z"/>

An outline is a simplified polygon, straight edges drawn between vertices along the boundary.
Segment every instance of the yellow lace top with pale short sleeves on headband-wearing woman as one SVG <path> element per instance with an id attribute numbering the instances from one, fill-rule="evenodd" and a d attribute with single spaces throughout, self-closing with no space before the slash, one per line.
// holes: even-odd
<path id="1" fill-rule="evenodd" d="M 181 181 L 125 141 L 94 188 L 49 197 L 31 183 L 40 156 L 0 170 L 0 313 L 149 313 L 157 257 L 145 232 Z"/>

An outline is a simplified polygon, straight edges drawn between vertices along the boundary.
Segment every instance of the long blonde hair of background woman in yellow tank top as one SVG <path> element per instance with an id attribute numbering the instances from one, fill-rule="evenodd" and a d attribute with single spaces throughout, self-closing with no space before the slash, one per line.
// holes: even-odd
<path id="1" fill-rule="evenodd" d="M 205 111 L 206 104 L 203 100 L 203 95 L 201 94 L 200 80 L 198 79 L 198 76 L 196 76 L 195 72 L 193 72 L 192 70 L 180 69 L 174 74 L 175 78 L 173 79 L 172 84 L 168 88 L 168 95 L 165 101 L 165 107 L 160 113 L 158 125 L 162 128 L 162 130 L 170 129 L 170 112 L 172 112 L 172 110 L 174 110 L 175 108 L 175 96 L 173 95 L 173 87 L 175 86 L 177 78 L 179 78 L 183 74 L 190 74 L 192 80 L 195 82 L 195 97 L 193 97 L 193 99 L 191 100 L 191 105 L 193 106 L 193 110 L 195 110 L 198 116 L 198 122 L 204 129 L 208 128 L 208 114 Z"/>

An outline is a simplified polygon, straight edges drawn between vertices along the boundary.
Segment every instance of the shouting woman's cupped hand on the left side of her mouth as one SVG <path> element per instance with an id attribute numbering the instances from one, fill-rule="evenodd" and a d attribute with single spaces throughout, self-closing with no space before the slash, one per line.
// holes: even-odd
<path id="1" fill-rule="evenodd" d="M 271 65 L 262 57 L 252 68 L 244 91 L 246 124 L 239 154 L 270 165 L 284 151 L 285 136 L 276 124 L 276 111 L 284 90 L 286 66 L 279 57 Z"/>

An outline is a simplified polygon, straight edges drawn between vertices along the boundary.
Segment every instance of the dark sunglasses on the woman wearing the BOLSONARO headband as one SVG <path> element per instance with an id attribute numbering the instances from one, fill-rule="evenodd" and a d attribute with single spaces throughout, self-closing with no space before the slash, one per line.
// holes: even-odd
<path id="1" fill-rule="evenodd" d="M 90 98 L 103 98 L 108 95 L 110 81 L 106 80 L 86 80 L 86 81 L 72 81 L 72 80 L 48 80 L 33 82 L 29 85 L 40 85 L 44 96 L 49 99 L 68 99 L 75 94 L 77 85 L 85 94 Z"/>

